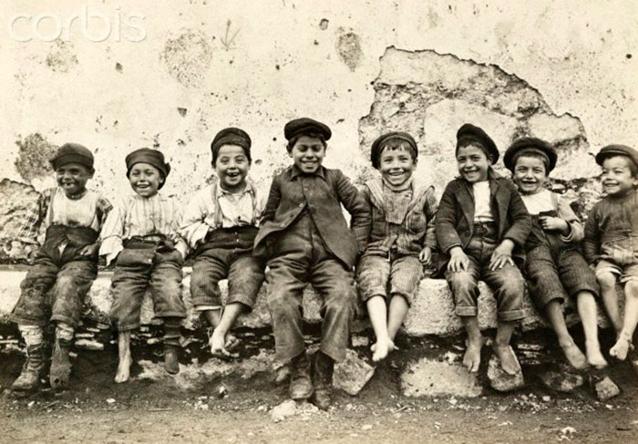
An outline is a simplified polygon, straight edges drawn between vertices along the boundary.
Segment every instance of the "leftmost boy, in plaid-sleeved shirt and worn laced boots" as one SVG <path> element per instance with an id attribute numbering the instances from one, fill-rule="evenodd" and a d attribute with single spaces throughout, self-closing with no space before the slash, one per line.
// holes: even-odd
<path id="1" fill-rule="evenodd" d="M 110 203 L 86 188 L 93 177 L 93 154 L 77 143 L 66 143 L 50 160 L 57 188 L 44 191 L 33 215 L 17 239 L 37 244 L 46 224 L 45 241 L 20 285 L 22 294 L 11 314 L 26 342 L 26 363 L 11 390 L 37 387 L 45 367 L 43 327 L 56 323 L 56 343 L 49 372 L 51 387 L 67 386 L 69 351 L 88 290 L 98 272 L 98 235 Z"/>

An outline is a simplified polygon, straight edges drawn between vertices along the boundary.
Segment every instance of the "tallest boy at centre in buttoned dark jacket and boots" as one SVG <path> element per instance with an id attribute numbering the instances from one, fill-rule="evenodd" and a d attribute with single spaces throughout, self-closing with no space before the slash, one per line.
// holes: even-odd
<path id="1" fill-rule="evenodd" d="M 294 119 L 283 133 L 293 165 L 273 178 L 253 254 L 268 260 L 268 307 L 278 360 L 292 361 L 290 396 L 331 403 L 335 360 L 345 358 L 356 293 L 355 259 L 365 249 L 370 212 L 340 170 L 322 166 L 331 130 L 314 119 Z M 341 204 L 352 215 L 348 230 Z M 311 364 L 304 349 L 301 297 L 306 284 L 324 298 L 321 349 Z"/>

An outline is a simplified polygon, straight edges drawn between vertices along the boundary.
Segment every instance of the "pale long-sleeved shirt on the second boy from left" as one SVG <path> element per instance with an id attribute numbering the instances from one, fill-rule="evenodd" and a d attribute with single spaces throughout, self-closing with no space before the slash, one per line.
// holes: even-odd
<path id="1" fill-rule="evenodd" d="M 99 254 L 107 256 L 108 264 L 124 249 L 123 241 L 152 234 L 166 236 L 182 256 L 186 255 L 186 243 L 180 237 L 180 209 L 175 200 L 161 194 L 149 198 L 130 195 L 118 201 L 108 214 Z"/>

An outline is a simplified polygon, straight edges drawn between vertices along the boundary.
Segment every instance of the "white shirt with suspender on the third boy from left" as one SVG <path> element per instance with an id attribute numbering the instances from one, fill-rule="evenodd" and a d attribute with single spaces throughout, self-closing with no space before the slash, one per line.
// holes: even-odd
<path id="1" fill-rule="evenodd" d="M 259 226 L 264 205 L 264 196 L 252 181 L 246 181 L 246 187 L 239 193 L 225 191 L 219 181 L 215 181 L 190 200 L 180 224 L 180 234 L 195 248 L 211 230 Z"/>

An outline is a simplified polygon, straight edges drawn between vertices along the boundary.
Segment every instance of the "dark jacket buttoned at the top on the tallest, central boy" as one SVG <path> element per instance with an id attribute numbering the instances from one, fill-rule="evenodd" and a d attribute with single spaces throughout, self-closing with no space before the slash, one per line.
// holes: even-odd
<path id="1" fill-rule="evenodd" d="M 352 231 L 345 222 L 342 203 L 352 216 Z M 293 165 L 273 178 L 252 254 L 270 259 L 268 244 L 278 242 L 304 211 L 310 212 L 325 246 L 353 267 L 357 254 L 365 250 L 370 210 L 343 172 L 324 167 L 316 174 L 303 175 Z"/>

